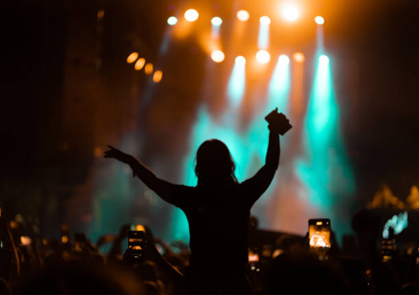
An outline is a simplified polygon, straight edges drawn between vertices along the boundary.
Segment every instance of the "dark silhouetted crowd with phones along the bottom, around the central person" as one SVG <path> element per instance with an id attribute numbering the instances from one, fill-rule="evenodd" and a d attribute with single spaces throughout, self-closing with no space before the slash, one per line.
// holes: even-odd
<path id="1" fill-rule="evenodd" d="M 103 235 L 94 244 L 84 233 L 71 235 L 66 226 L 60 240 L 23 236 L 18 222 L 0 219 L 0 294 L 188 294 L 183 279 L 188 246 L 168 245 L 147 226 L 123 225 L 119 233 Z M 344 240 L 342 247 L 332 231 L 330 248 L 310 248 L 308 236 L 287 235 L 249 248 L 246 277 L 253 292 L 419 294 L 419 245 L 397 244 L 391 231 L 383 240 L 370 210 L 355 214 L 352 227 L 356 236 Z M 249 229 L 250 239 L 257 230 Z M 217 244 L 216 232 L 209 234 L 214 235 L 214 247 L 234 251 Z M 103 251 L 106 247 L 109 250 Z M 213 263 L 223 268 L 224 261 Z M 217 274 L 213 279 L 217 281 Z M 225 290 L 201 293 L 227 294 Z"/>

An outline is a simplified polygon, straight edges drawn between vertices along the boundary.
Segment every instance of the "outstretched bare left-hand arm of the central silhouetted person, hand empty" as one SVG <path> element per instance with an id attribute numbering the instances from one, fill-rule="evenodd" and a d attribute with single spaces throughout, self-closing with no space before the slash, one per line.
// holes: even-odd
<path id="1" fill-rule="evenodd" d="M 120 162 L 128 164 L 132 169 L 133 176 L 137 176 L 150 190 L 153 190 L 153 192 L 160 196 L 160 198 L 164 201 L 175 206 L 179 205 L 179 200 L 177 198 L 179 198 L 181 194 L 178 192 L 184 187 L 184 185 L 175 185 L 160 179 L 135 157 L 123 153 L 122 151 L 115 149 L 113 146 L 108 145 L 108 147 L 110 150 L 105 151 L 105 158 L 114 158 Z"/>

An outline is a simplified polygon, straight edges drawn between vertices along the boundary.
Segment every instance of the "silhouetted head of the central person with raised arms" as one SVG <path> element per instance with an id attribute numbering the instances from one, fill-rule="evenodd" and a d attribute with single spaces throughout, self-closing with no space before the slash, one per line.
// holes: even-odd
<path id="1" fill-rule="evenodd" d="M 206 140 L 196 152 L 195 174 L 198 184 L 237 182 L 236 165 L 230 151 L 220 140 Z"/>

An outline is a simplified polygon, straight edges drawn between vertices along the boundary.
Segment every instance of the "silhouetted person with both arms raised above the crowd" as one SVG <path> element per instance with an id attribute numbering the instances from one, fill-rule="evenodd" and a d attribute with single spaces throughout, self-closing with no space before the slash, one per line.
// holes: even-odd
<path id="1" fill-rule="evenodd" d="M 268 116 L 266 117 L 268 120 Z M 239 183 L 229 149 L 220 140 L 207 140 L 196 153 L 196 187 L 175 185 L 156 177 L 141 162 L 112 146 L 105 157 L 129 164 L 134 175 L 188 218 L 190 268 L 186 273 L 190 293 L 252 294 L 245 277 L 247 235 L 252 205 L 266 191 L 279 164 L 279 133 L 290 127 L 277 110 L 269 115 L 266 163 Z M 288 127 L 289 126 L 289 127 Z M 288 128 L 287 128 L 288 127 Z"/>

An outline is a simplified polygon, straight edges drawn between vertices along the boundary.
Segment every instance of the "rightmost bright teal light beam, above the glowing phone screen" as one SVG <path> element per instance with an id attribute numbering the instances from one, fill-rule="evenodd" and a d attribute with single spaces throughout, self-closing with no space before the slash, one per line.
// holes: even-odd
<path id="1" fill-rule="evenodd" d="M 339 126 L 339 109 L 333 92 L 331 62 L 320 54 L 305 116 L 304 159 L 296 162 L 296 172 L 305 183 L 309 200 L 342 235 L 350 231 L 350 220 L 342 220 L 338 203 L 355 191 L 353 172 L 344 149 Z"/>

